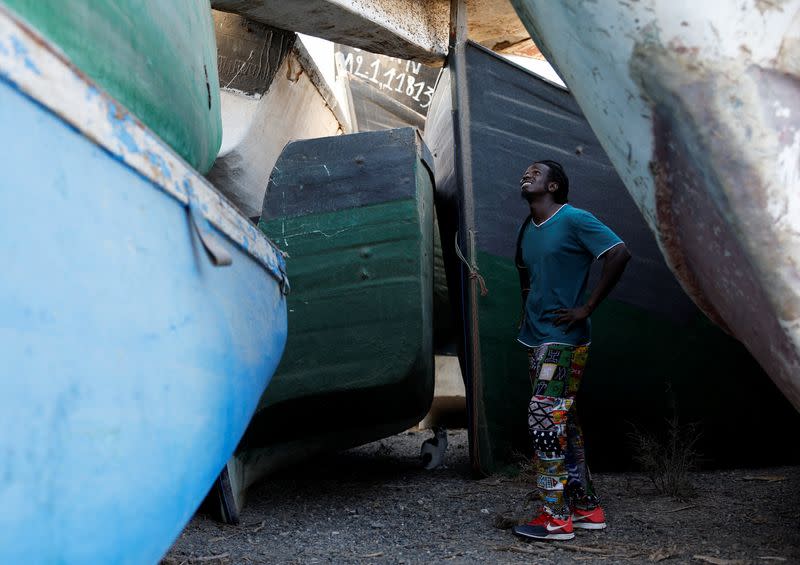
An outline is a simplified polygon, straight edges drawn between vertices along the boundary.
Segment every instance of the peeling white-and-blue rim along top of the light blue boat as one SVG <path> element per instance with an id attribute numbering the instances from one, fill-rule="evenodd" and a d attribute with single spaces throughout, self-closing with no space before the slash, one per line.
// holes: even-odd
<path id="1" fill-rule="evenodd" d="M 278 280 L 285 278 L 285 262 L 274 244 L 258 232 L 242 230 L 237 224 L 241 215 L 208 181 L 72 66 L 59 51 L 0 7 L 0 45 L 4 42 L 16 47 L 14 54 L 0 51 L 2 80 L 13 84 L 185 205 L 190 194 L 186 187 L 189 187 L 212 225 Z M 171 179 L 184 179 L 186 186 Z"/>

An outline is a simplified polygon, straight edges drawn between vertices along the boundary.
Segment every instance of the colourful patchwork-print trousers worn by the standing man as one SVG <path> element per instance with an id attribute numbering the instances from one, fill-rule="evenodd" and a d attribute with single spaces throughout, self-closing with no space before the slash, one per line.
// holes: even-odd
<path id="1" fill-rule="evenodd" d="M 598 505 L 575 412 L 589 346 L 544 344 L 528 350 L 533 396 L 528 429 L 536 452 L 537 487 L 545 512 L 566 519 L 574 507 Z"/>

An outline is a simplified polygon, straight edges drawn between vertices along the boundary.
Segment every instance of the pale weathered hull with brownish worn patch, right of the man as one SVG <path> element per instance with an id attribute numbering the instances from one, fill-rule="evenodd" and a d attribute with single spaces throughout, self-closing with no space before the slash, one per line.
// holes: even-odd
<path id="1" fill-rule="evenodd" d="M 687 293 L 800 409 L 800 1 L 512 3 Z"/>

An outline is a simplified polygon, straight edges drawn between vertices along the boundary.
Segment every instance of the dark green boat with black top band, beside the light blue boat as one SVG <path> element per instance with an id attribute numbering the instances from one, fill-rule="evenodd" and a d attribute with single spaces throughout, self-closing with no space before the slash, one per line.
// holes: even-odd
<path id="1" fill-rule="evenodd" d="M 419 422 L 433 395 L 433 179 L 412 128 L 290 143 L 259 227 L 291 256 L 286 353 L 218 484 Z"/>

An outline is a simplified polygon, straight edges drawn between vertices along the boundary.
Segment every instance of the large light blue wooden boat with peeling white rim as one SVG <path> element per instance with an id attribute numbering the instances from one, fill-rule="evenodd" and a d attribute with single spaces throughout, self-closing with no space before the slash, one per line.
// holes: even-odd
<path id="1" fill-rule="evenodd" d="M 0 562 L 155 563 L 277 366 L 282 256 L 5 8 L 0 135 Z"/>

